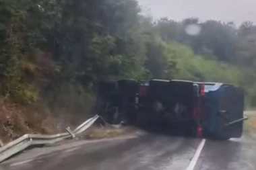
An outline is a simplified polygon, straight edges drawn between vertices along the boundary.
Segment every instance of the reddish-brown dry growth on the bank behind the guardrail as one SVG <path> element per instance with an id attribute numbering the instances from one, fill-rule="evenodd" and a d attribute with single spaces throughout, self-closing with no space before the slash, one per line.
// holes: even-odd
<path id="1" fill-rule="evenodd" d="M 24 134 L 52 134 L 58 131 L 54 120 L 38 114 L 34 107 L 24 107 L 11 102 L 0 105 L 0 138 L 3 143 Z"/>

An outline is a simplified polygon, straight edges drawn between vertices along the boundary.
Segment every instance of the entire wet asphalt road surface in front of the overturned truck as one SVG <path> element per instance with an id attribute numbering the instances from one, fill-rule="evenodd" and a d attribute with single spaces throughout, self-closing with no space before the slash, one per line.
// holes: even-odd
<path id="1" fill-rule="evenodd" d="M 146 134 L 100 142 L 79 141 L 79 144 L 69 143 L 58 147 L 59 151 L 53 151 L 51 147 L 29 151 L 3 163 L 0 169 L 256 169 L 256 140 L 247 135 L 239 140 L 203 141 L 200 138 Z M 38 155 L 47 149 L 52 152 Z"/>

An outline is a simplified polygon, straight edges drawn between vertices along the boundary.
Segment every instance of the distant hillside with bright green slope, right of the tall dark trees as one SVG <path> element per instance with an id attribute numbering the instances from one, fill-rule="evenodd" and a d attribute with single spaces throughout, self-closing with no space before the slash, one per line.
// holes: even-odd
<path id="1" fill-rule="evenodd" d="M 187 33 L 191 24 L 199 28 L 195 36 Z M 174 63 L 172 69 L 168 69 L 172 70 L 169 78 L 240 85 L 245 87 L 247 105 L 255 105 L 256 26 L 252 22 L 244 22 L 236 28 L 232 22 L 200 23 L 197 18 L 175 22 L 163 18 L 154 28 L 165 42 L 164 56 Z M 160 58 L 163 57 L 160 55 Z"/>

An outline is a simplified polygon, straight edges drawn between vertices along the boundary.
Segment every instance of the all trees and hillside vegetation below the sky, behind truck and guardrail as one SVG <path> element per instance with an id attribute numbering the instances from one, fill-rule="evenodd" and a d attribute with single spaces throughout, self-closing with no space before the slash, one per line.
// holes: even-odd
<path id="1" fill-rule="evenodd" d="M 100 79 L 232 83 L 245 88 L 247 105 L 255 107 L 253 23 L 153 21 L 139 13 L 135 0 L 0 0 L 2 138 L 53 132 L 42 126 L 55 126 L 56 119 L 77 124 L 89 115 L 91 85 Z M 193 25 L 195 36 L 187 34 Z"/>

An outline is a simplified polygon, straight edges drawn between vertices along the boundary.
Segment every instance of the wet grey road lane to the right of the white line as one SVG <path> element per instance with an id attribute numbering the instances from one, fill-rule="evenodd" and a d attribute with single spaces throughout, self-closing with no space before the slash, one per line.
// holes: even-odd
<path id="1" fill-rule="evenodd" d="M 255 170 L 256 139 L 243 136 L 230 141 L 207 140 L 195 170 Z"/>

